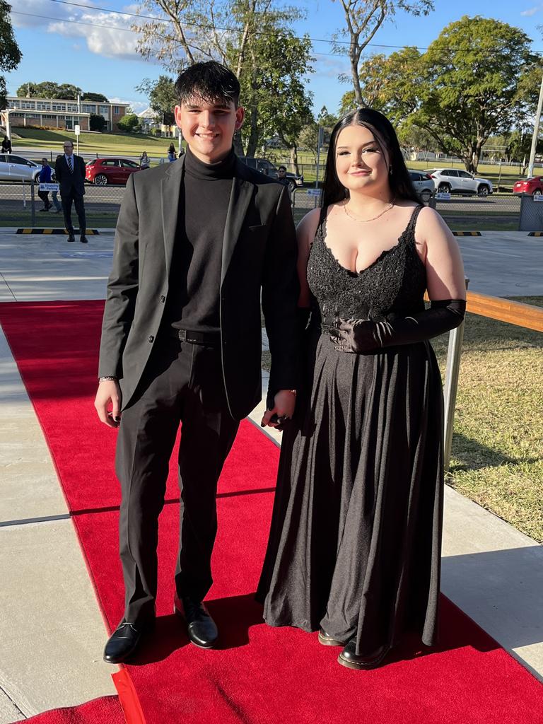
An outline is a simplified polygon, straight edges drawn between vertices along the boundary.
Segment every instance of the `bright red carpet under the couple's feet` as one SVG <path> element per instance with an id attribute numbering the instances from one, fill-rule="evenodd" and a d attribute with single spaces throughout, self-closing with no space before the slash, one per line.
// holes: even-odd
<path id="1" fill-rule="evenodd" d="M 98 423 L 92 405 L 102 304 L 5 303 L 0 305 L 0 322 L 75 513 L 98 598 L 113 626 L 122 615 L 115 433 Z M 388 665 L 371 672 L 337 665 L 338 649 L 321 647 L 316 634 L 262 623 L 253 592 L 264 555 L 277 457 L 269 439 L 243 423 L 219 487 L 215 583 L 209 595 L 209 608 L 222 632 L 216 651 L 190 646 L 171 614 L 178 508 L 174 502 L 165 506 L 156 635 L 116 681 L 130 724 L 534 724 L 542 719 L 542 686 L 446 599 L 440 649 L 421 651 L 416 641 L 406 641 Z M 176 489 L 170 476 L 170 500 Z M 132 685 L 137 700 L 130 694 Z M 78 707 L 77 715 L 81 711 Z M 43 724 L 46 721 L 65 720 L 57 717 Z"/>

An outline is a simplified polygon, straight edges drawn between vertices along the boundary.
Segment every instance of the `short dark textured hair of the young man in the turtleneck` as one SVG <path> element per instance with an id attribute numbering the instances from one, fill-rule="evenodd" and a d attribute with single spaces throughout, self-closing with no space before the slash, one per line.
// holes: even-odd
<path id="1" fill-rule="evenodd" d="M 183 70 L 175 81 L 175 92 L 180 104 L 188 103 L 191 98 L 201 98 L 208 103 L 232 101 L 237 108 L 240 82 L 227 67 L 210 60 Z"/>

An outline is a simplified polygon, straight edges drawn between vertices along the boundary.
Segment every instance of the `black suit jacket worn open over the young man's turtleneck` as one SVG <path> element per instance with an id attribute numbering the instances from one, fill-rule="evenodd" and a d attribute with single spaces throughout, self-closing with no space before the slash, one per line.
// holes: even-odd
<path id="1" fill-rule="evenodd" d="M 98 376 L 117 376 L 130 400 L 159 335 L 169 290 L 185 159 L 132 174 L 115 232 Z M 222 368 L 233 418 L 261 400 L 261 303 L 271 352 L 269 387 L 298 384 L 298 277 L 287 189 L 236 162 L 219 289 Z"/>

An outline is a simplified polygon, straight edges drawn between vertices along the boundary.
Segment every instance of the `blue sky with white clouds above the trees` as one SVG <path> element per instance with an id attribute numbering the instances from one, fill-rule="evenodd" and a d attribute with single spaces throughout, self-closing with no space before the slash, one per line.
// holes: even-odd
<path id="1" fill-rule="evenodd" d="M 110 101 L 132 104 L 135 111 L 148 106 L 146 96 L 135 86 L 144 78 L 156 78 L 163 69 L 145 62 L 135 52 L 135 33 L 130 32 L 130 18 L 105 10 L 135 12 L 138 3 L 122 0 L 73 0 L 76 5 L 54 0 L 9 0 L 12 22 L 23 57 L 17 70 L 7 75 L 9 94 L 27 81 L 54 80 L 73 83 L 83 90 L 104 93 Z M 332 0 L 290 0 L 307 13 L 297 23 L 298 34 L 308 33 L 313 41 L 315 72 L 309 77 L 313 106 L 318 111 L 326 105 L 336 111 L 348 85 L 338 82 L 348 63 L 331 53 L 327 41 L 334 30 L 343 26 L 342 8 Z M 374 37 L 368 54 L 388 53 L 384 46 L 428 46 L 442 28 L 462 15 L 493 17 L 522 28 L 533 41 L 534 51 L 543 51 L 543 1 L 536 0 L 435 0 L 436 9 L 426 17 L 398 14 Z M 17 12 L 15 12 L 17 11 Z M 41 17 L 35 17 L 41 16 Z M 76 22 L 77 21 L 77 22 Z M 109 28 L 100 27 L 108 25 Z"/>

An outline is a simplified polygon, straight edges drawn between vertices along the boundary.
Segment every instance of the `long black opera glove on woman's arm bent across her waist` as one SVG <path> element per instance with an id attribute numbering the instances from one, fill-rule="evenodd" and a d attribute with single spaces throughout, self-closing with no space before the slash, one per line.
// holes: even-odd
<path id="1" fill-rule="evenodd" d="M 337 350 L 358 354 L 376 352 L 384 347 L 424 342 L 458 327 L 466 313 L 466 300 L 439 299 L 430 308 L 412 316 L 390 321 L 338 319 L 330 329 Z"/>

